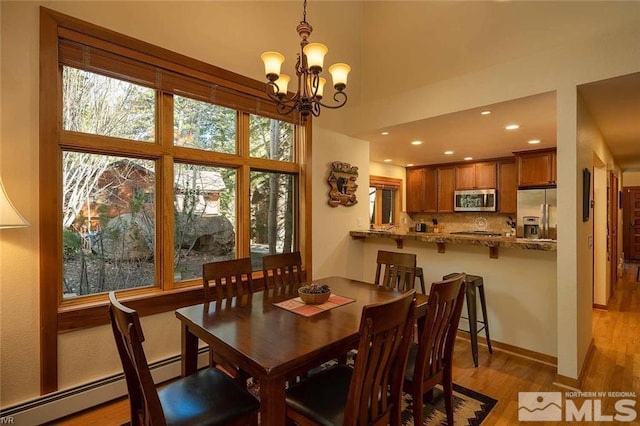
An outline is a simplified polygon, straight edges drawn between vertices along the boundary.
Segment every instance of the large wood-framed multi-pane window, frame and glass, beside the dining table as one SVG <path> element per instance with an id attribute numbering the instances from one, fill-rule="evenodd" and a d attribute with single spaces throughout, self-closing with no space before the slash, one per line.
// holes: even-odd
<path id="1" fill-rule="evenodd" d="M 49 392 L 57 334 L 108 323 L 110 290 L 148 315 L 198 303 L 204 262 L 251 257 L 259 271 L 265 253 L 301 250 L 310 272 L 311 133 L 264 83 L 45 8 L 40 22 Z"/>

